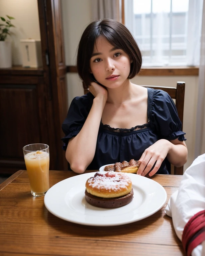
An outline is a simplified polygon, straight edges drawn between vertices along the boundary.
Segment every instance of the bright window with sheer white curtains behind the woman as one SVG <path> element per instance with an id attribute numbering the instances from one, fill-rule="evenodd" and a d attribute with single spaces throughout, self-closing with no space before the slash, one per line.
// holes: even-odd
<path id="1" fill-rule="evenodd" d="M 199 65 L 202 7 L 203 0 L 125 0 L 143 66 Z"/>

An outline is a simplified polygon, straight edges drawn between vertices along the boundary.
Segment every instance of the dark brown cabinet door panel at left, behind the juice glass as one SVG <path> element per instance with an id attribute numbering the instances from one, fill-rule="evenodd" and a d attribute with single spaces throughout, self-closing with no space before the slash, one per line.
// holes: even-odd
<path id="1" fill-rule="evenodd" d="M 23 146 L 48 143 L 44 91 L 41 77 L 1 77 L 0 173 L 25 169 Z"/>

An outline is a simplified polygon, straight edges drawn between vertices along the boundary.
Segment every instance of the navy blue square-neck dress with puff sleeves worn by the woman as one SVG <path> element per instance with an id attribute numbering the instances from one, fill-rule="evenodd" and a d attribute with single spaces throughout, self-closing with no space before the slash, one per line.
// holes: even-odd
<path id="1" fill-rule="evenodd" d="M 98 170 L 105 164 L 139 160 L 146 148 L 159 139 L 180 141 L 186 140 L 181 129 L 175 104 L 168 93 L 162 90 L 148 90 L 148 123 L 138 125 L 131 129 L 111 128 L 101 122 L 96 152 L 88 170 Z M 70 105 L 62 129 L 65 137 L 62 138 L 66 150 L 70 138 L 76 136 L 83 127 L 86 118 L 91 110 L 94 96 L 89 92 L 81 97 L 75 97 Z M 137 111 L 136 111 L 137 115 Z M 80 159 L 79 159 L 80 161 Z M 69 166 L 70 169 L 70 166 Z M 157 174 L 169 174 L 170 163 L 167 158 L 161 164 Z"/>

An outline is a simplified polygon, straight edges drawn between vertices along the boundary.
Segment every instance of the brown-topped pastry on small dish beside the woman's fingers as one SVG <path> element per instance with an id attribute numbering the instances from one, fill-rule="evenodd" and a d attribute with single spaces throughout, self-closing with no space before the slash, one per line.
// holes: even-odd
<path id="1" fill-rule="evenodd" d="M 129 162 L 123 161 L 122 163 L 117 162 L 114 165 L 107 165 L 104 167 L 105 172 L 126 172 L 126 173 L 137 173 L 140 163 L 134 159 Z"/>

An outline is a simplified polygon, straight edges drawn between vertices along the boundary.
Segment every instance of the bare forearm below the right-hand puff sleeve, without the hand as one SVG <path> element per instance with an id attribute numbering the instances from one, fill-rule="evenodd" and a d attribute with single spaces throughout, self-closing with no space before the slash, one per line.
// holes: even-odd
<path id="1" fill-rule="evenodd" d="M 170 143 L 170 149 L 167 154 L 167 159 L 176 167 L 183 166 L 187 161 L 187 147 L 185 142 L 181 144 Z"/>

